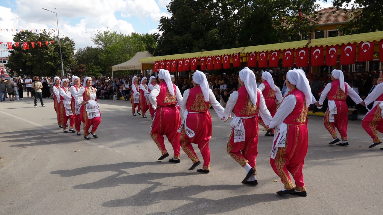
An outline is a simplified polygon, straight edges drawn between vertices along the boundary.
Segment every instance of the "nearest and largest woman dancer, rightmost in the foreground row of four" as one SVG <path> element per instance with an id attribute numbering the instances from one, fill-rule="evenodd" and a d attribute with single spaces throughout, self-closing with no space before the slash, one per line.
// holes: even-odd
<path id="1" fill-rule="evenodd" d="M 282 100 L 269 125 L 276 131 L 270 165 L 284 184 L 284 188 L 277 192 L 278 195 L 306 196 L 302 170 L 308 149 L 306 117 L 312 94 L 306 76 L 297 70 L 286 73 L 286 86 L 290 93 Z"/>

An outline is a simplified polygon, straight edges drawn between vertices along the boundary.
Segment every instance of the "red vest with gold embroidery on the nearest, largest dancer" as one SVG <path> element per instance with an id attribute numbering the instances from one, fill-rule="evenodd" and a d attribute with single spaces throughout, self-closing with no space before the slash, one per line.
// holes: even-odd
<path id="1" fill-rule="evenodd" d="M 306 99 L 302 91 L 294 89 L 288 95 L 293 94 L 296 98 L 296 104 L 290 115 L 283 120 L 288 125 L 303 125 L 306 122 L 308 108 L 306 107 Z M 283 101 L 282 101 L 283 102 Z M 281 103 L 282 104 L 282 103 Z"/>

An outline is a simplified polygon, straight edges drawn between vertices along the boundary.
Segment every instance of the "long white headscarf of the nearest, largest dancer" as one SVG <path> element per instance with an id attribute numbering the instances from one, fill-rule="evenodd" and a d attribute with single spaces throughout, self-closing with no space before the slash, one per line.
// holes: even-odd
<path id="1" fill-rule="evenodd" d="M 306 106 L 308 107 L 311 104 L 312 93 L 309 80 L 307 80 L 306 74 L 302 71 L 303 70 L 299 71 L 296 69 L 289 70 L 286 73 L 286 78 L 292 85 L 295 85 L 298 90 L 302 91 L 306 99 Z"/>

